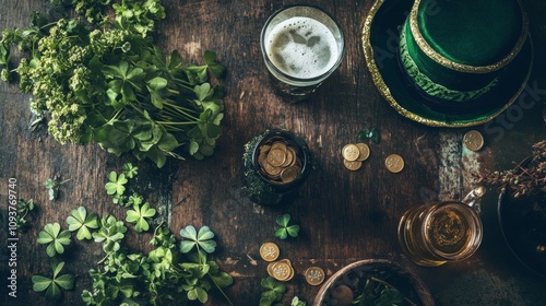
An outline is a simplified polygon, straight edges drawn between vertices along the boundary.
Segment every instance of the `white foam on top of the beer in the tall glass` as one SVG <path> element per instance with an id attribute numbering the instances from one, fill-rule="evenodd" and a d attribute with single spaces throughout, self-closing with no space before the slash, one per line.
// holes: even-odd
<path id="1" fill-rule="evenodd" d="M 278 70 L 298 79 L 328 72 L 339 58 L 332 32 L 310 17 L 292 17 L 275 25 L 265 39 L 265 49 Z"/>

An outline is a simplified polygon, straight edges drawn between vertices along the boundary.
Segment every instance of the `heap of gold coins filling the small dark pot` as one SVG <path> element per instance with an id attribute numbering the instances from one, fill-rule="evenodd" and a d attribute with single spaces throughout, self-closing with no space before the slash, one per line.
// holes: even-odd
<path id="1" fill-rule="evenodd" d="M 288 184 L 301 174 L 302 162 L 296 149 L 284 138 L 274 137 L 259 148 L 260 173 L 274 184 Z"/>

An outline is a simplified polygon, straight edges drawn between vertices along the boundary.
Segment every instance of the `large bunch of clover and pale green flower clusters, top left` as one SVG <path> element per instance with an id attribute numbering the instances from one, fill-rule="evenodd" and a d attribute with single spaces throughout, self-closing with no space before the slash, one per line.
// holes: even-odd
<path id="1" fill-rule="evenodd" d="M 80 8 L 80 2 L 72 4 Z M 167 156 L 212 155 L 224 110 L 224 91 L 207 78 L 209 71 L 224 72 L 216 55 L 205 51 L 203 66 L 182 64 L 177 51 L 165 55 L 154 45 L 150 34 L 165 17 L 159 0 L 123 0 L 112 9 L 108 23 L 61 19 L 47 24 L 34 14 L 27 30 L 5 30 L 2 79 L 12 79 L 10 46 L 31 55 L 12 71 L 21 90 L 33 94 L 32 110 L 49 119 L 48 132 L 62 144 L 96 142 L 158 167 Z"/>

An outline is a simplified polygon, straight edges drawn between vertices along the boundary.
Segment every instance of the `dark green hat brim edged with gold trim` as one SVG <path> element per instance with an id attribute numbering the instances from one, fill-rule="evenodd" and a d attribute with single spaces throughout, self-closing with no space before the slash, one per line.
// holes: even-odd
<path id="1" fill-rule="evenodd" d="M 363 26 L 363 47 L 373 83 L 402 116 L 431 127 L 462 128 L 485 123 L 505 111 L 524 90 L 533 67 L 533 46 L 527 37 L 520 54 L 498 78 L 498 84 L 472 103 L 476 107 L 452 114 L 431 109 L 408 82 L 399 64 L 400 26 L 412 1 L 377 0 Z"/>

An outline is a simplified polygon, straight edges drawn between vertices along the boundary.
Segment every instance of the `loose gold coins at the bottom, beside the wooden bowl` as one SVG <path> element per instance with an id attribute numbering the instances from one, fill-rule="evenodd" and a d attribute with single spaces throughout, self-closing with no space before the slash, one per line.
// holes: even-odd
<path id="1" fill-rule="evenodd" d="M 265 243 L 260 247 L 260 256 L 263 260 L 269 261 L 268 274 L 273 279 L 282 282 L 287 282 L 294 278 L 295 271 L 292 262 L 288 259 L 278 259 L 278 246 L 274 243 Z M 320 285 L 324 279 L 324 270 L 320 267 L 310 267 L 305 273 L 305 279 L 310 285 Z"/>

